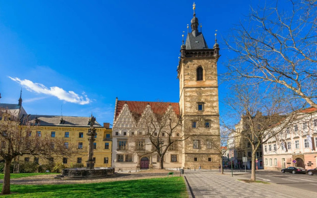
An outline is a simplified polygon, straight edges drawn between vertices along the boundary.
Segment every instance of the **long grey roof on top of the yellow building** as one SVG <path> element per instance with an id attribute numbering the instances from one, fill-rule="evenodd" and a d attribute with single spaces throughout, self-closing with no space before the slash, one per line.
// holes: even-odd
<path id="1" fill-rule="evenodd" d="M 90 117 L 63 116 L 64 124 L 60 124 L 61 116 L 56 115 L 24 115 L 28 116 L 31 123 L 35 123 L 35 118 L 39 119 L 40 126 L 67 126 L 67 127 L 89 127 Z M 95 127 L 102 127 L 97 121 Z"/>

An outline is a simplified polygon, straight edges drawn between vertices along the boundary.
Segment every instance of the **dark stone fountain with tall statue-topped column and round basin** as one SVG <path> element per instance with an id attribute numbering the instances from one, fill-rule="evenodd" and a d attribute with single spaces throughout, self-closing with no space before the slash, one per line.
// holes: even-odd
<path id="1" fill-rule="evenodd" d="M 90 118 L 90 128 L 88 129 L 88 160 L 86 161 L 86 168 L 65 168 L 62 169 L 59 178 L 72 178 L 72 179 L 96 179 L 105 178 L 114 175 L 114 168 L 108 167 L 97 167 L 95 168 L 94 161 L 94 142 L 95 136 L 97 135 L 96 129 L 94 127 L 96 118 L 91 116 Z"/>

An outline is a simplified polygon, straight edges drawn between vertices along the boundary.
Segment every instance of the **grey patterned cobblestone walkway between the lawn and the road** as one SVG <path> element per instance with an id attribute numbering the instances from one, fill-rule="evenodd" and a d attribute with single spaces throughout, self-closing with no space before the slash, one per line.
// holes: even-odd
<path id="1" fill-rule="evenodd" d="M 193 198 L 285 198 L 304 196 L 316 198 L 317 194 L 277 184 L 244 183 L 239 176 L 231 177 L 216 172 L 186 171 L 185 178 Z"/>

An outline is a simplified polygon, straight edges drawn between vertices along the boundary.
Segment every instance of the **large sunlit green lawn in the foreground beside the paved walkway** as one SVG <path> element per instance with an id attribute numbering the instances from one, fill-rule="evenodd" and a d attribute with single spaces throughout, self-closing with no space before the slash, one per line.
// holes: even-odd
<path id="1" fill-rule="evenodd" d="M 2 187 L 2 186 L 0 186 Z M 188 198 L 182 177 L 66 185 L 11 185 L 2 198 Z"/>

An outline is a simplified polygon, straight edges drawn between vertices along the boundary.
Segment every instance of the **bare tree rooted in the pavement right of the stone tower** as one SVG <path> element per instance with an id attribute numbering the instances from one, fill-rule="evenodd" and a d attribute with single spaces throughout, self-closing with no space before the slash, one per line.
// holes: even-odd
<path id="1" fill-rule="evenodd" d="M 276 137 L 286 130 L 298 115 L 292 102 L 285 99 L 283 93 L 254 86 L 233 86 L 226 103 L 230 106 L 227 117 L 235 118 L 230 123 L 226 119 L 223 126 L 239 138 L 240 144 L 249 144 L 252 148 L 251 181 L 256 180 L 256 151 L 268 141 L 276 141 Z M 237 120 L 240 120 L 237 124 Z M 279 125 L 276 129 L 273 126 Z M 235 141 L 237 144 L 237 141 Z"/>

